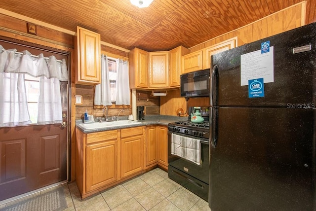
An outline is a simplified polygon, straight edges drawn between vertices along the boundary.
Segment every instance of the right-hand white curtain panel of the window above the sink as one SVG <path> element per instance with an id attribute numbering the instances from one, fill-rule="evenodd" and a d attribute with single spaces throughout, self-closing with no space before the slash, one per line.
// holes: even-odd
<path id="1" fill-rule="evenodd" d="M 128 62 L 120 59 L 117 62 L 117 99 L 116 105 L 130 105 Z"/>

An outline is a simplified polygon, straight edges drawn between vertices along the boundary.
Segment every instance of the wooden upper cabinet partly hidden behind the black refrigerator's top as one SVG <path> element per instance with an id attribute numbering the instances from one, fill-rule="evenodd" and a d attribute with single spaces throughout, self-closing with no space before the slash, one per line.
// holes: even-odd
<path id="1" fill-rule="evenodd" d="M 211 56 L 237 46 L 237 36 L 203 49 L 203 69 L 211 67 Z"/>

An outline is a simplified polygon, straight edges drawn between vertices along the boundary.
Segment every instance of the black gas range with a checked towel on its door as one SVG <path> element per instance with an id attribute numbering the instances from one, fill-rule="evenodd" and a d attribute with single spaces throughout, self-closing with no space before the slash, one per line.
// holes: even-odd
<path id="1" fill-rule="evenodd" d="M 208 121 L 197 124 L 187 120 L 168 124 L 168 176 L 205 201 L 208 201 L 209 183 L 209 128 Z M 198 164 L 172 151 L 171 144 L 175 147 L 172 139 L 175 137 L 180 137 L 180 144 L 184 146 L 177 145 L 182 147 L 180 151 L 186 151 L 193 140 L 198 140 Z"/>

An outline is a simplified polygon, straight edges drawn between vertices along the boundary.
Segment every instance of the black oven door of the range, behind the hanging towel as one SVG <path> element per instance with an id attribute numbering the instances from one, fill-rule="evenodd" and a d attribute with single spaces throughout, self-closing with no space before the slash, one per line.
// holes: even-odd
<path id="1" fill-rule="evenodd" d="M 208 184 L 209 170 L 208 170 L 208 158 L 209 158 L 209 142 L 208 140 L 200 140 L 200 159 L 201 164 L 197 165 L 189 160 L 181 158 L 177 155 L 171 154 L 171 134 L 177 134 L 183 137 L 190 137 L 193 139 L 198 139 L 197 137 L 192 137 L 188 135 L 178 134 L 175 132 L 168 131 L 168 164 L 175 169 L 178 169 L 190 176 L 197 178 Z"/>

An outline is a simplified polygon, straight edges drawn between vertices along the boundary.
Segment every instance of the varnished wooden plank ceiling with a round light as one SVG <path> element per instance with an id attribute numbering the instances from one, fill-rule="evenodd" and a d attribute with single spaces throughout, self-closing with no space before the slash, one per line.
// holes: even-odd
<path id="1" fill-rule="evenodd" d="M 161 51 L 190 48 L 301 1 L 154 0 L 138 8 L 129 0 L 1 0 L 0 8 L 73 32 L 81 26 L 129 50 Z M 307 0 L 306 23 L 316 21 L 315 8 Z"/>

